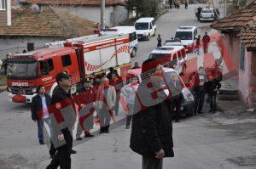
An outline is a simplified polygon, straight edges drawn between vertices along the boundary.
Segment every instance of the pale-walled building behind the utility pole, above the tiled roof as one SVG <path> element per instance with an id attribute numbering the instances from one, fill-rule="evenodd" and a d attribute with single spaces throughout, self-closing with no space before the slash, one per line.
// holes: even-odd
<path id="1" fill-rule="evenodd" d="M 84 20 L 101 22 L 100 0 L 19 0 L 22 5 L 38 4 L 40 7 L 51 6 L 68 14 L 77 15 Z M 131 16 L 125 8 L 125 0 L 106 0 L 105 25 L 114 26 Z M 132 16 L 131 16 L 132 17 Z"/>

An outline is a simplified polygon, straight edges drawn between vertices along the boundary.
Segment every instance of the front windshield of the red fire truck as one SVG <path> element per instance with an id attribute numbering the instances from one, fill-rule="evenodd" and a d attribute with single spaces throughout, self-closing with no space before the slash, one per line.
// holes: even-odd
<path id="1" fill-rule="evenodd" d="M 13 79 L 32 79 L 37 77 L 37 62 L 32 60 L 10 60 L 7 66 L 7 76 Z"/>

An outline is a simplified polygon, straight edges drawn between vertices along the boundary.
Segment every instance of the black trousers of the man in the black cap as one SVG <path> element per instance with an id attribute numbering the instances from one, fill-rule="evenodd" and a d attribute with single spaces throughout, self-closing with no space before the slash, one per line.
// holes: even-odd
<path id="1" fill-rule="evenodd" d="M 57 169 L 60 166 L 61 169 L 71 169 L 71 150 L 73 146 L 73 137 L 71 133 L 67 130 L 63 132 L 65 141 L 67 144 L 56 148 L 56 153 L 50 161 L 49 166 L 46 169 Z"/>

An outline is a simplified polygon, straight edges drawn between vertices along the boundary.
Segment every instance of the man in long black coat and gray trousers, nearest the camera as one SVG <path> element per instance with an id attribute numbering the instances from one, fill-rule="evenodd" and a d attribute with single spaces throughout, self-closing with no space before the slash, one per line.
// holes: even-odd
<path id="1" fill-rule="evenodd" d="M 154 70 L 157 66 L 155 59 L 148 59 L 143 63 L 142 71 L 145 73 Z M 143 100 L 148 99 L 148 93 L 154 96 L 151 100 L 152 104 L 139 110 L 132 117 L 130 147 L 137 154 L 143 155 L 143 169 L 161 169 L 163 158 L 174 156 L 170 100 L 163 91 L 154 92 L 160 88 L 160 83 L 163 81 L 154 77 L 144 79 L 137 88 L 139 99 L 136 99 L 134 112 L 143 107 L 142 103 L 144 105 L 150 102 Z"/>

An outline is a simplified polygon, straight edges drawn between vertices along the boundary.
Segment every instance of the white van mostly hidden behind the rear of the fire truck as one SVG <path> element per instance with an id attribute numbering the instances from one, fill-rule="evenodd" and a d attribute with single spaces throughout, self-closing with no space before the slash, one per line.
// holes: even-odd
<path id="1" fill-rule="evenodd" d="M 135 57 L 138 49 L 137 33 L 134 26 L 115 26 L 110 29 L 103 29 L 101 31 L 102 35 L 114 35 L 118 34 L 120 36 L 129 35 L 130 37 L 130 50 L 131 57 Z"/>

